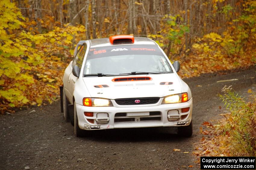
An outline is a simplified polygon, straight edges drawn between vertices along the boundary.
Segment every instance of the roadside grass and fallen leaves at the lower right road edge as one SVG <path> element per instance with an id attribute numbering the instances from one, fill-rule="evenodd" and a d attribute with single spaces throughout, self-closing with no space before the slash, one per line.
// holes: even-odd
<path id="1" fill-rule="evenodd" d="M 205 135 L 195 146 L 193 154 L 198 156 L 255 156 L 256 155 L 256 93 L 248 90 L 248 101 L 239 96 L 231 86 L 223 87 L 218 94 L 229 113 L 212 125 L 204 122 Z M 206 130 L 205 130 L 206 129 Z"/>

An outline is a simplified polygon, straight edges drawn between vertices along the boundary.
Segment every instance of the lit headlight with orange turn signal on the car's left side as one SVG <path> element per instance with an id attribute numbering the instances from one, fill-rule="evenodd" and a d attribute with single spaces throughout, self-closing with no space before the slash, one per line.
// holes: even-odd
<path id="1" fill-rule="evenodd" d="M 104 107 L 104 106 L 113 106 L 111 100 L 103 99 L 103 98 L 83 98 L 84 106 L 92 106 L 92 107 Z"/>

